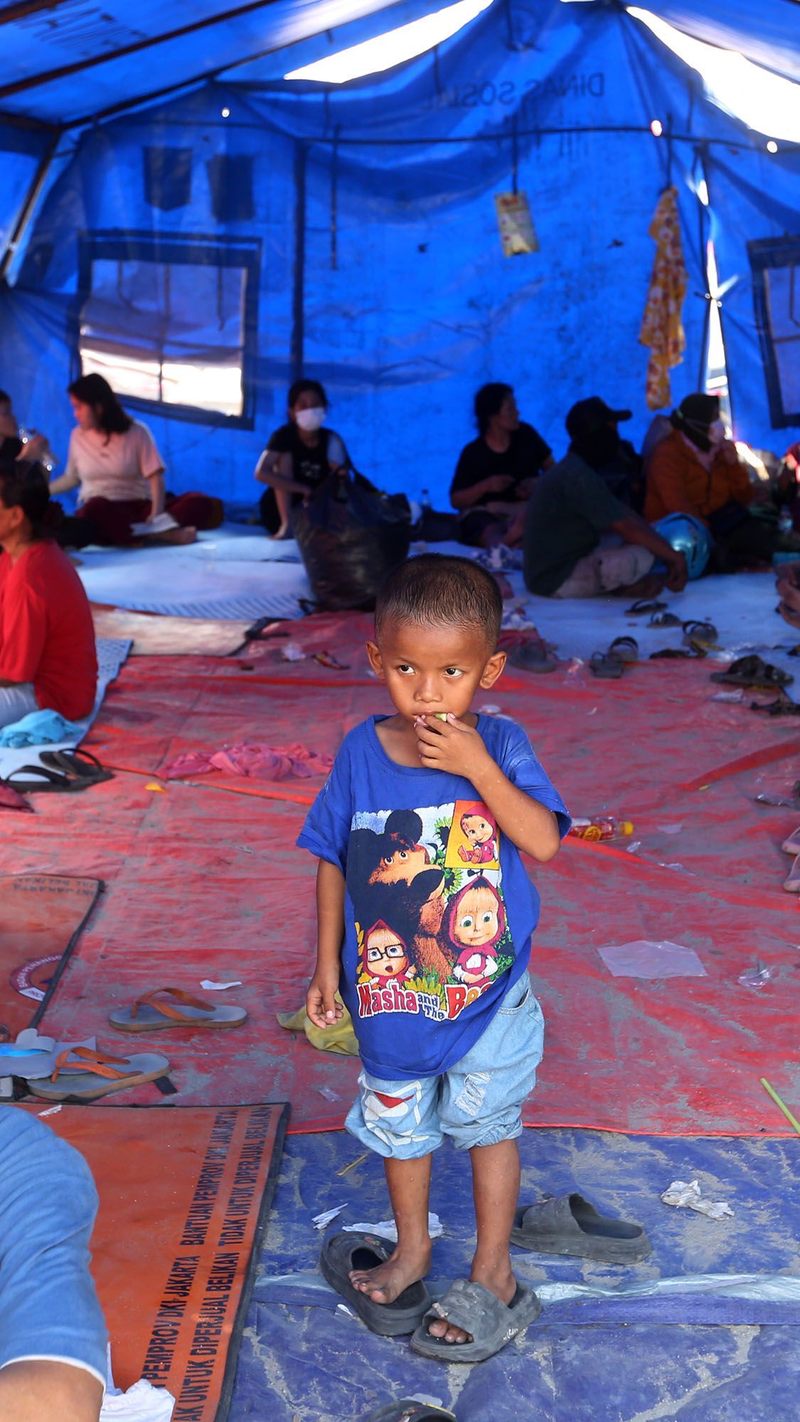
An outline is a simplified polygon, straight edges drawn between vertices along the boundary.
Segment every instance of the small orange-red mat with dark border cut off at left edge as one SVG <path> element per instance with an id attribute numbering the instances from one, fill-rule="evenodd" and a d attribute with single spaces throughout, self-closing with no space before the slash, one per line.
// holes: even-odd
<path id="1" fill-rule="evenodd" d="M 0 1022 L 38 1022 L 102 884 L 61 875 L 0 879 Z"/>

